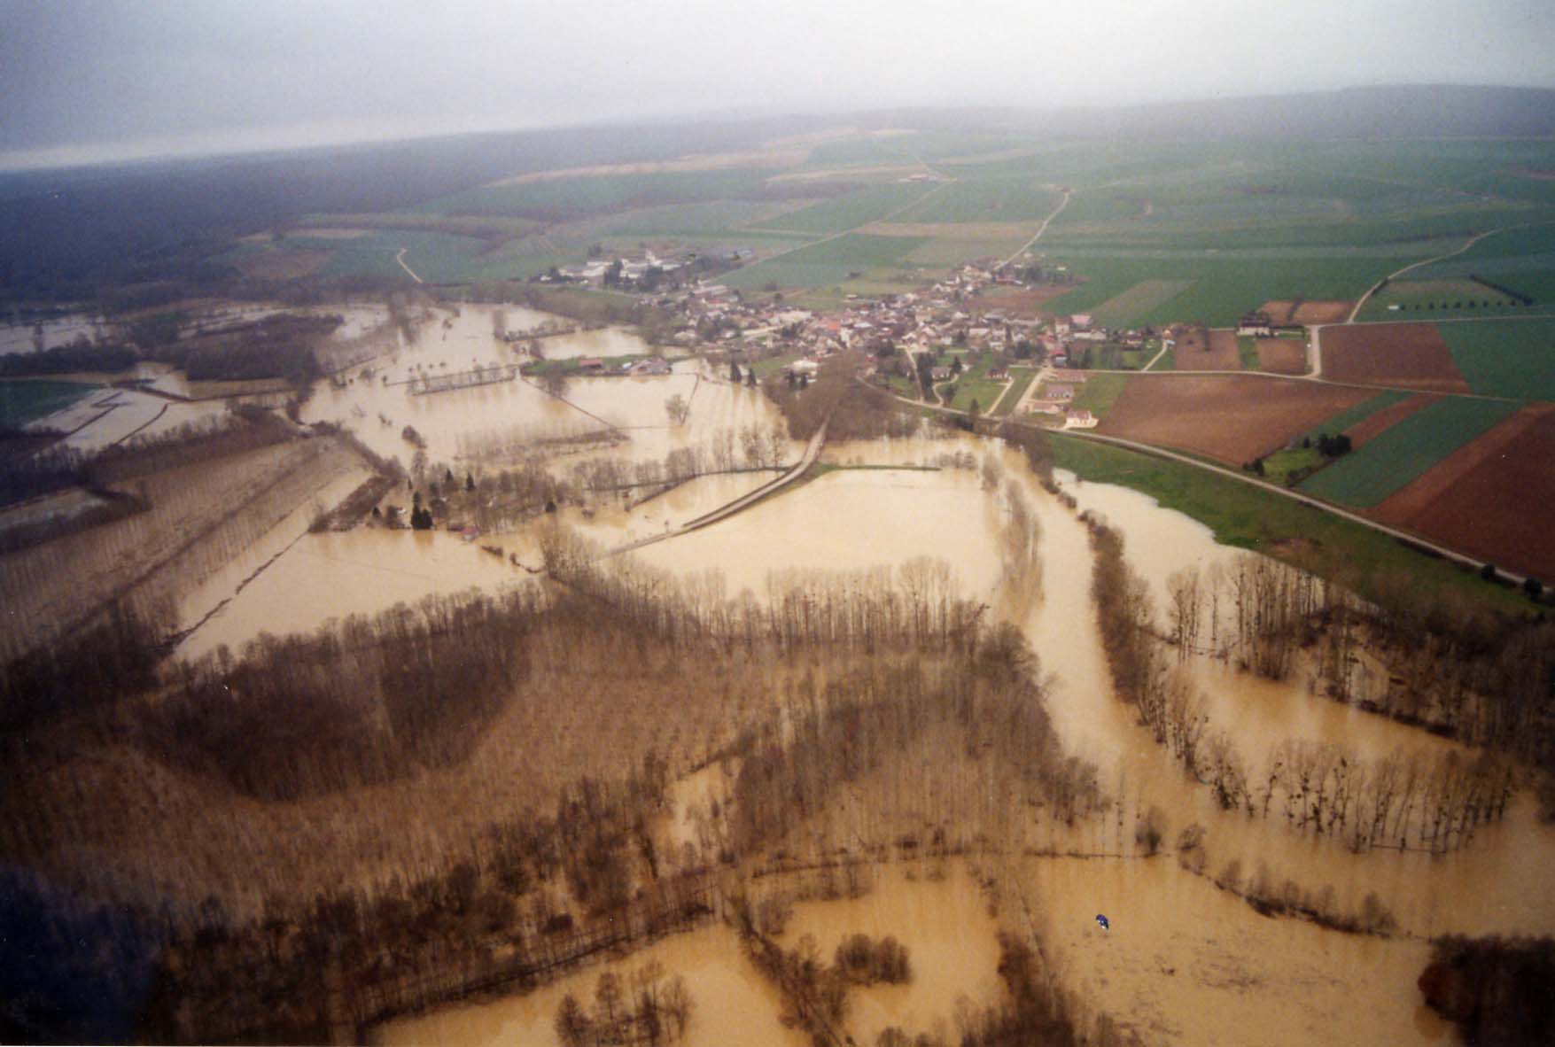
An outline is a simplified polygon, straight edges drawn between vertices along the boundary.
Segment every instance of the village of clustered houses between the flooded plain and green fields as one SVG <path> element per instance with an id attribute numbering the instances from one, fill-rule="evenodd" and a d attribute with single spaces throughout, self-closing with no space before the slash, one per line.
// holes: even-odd
<path id="1" fill-rule="evenodd" d="M 720 258 L 737 263 L 737 258 Z M 650 309 L 673 317 L 669 340 L 736 367 L 778 370 L 805 382 L 821 360 L 843 350 L 866 353 L 863 377 L 899 399 L 938 410 L 1022 415 L 1031 421 L 1092 429 L 1096 416 L 1076 407 L 1088 370 L 1144 370 L 1172 350 L 1186 325 L 1112 329 L 1088 314 L 1048 317 L 1028 304 L 1036 267 L 983 258 L 931 286 L 880 298 L 847 295 L 840 311 L 819 312 L 781 294 L 746 295 L 714 280 L 687 280 L 695 256 L 594 259 L 543 280 L 636 289 Z M 664 290 L 664 283 L 676 283 Z M 1005 304 L 1009 301 L 1011 304 Z M 776 367 L 773 365 L 776 363 Z M 652 363 L 606 367 L 577 360 L 585 374 L 655 373 Z M 964 391 L 958 393 L 958 387 Z"/>

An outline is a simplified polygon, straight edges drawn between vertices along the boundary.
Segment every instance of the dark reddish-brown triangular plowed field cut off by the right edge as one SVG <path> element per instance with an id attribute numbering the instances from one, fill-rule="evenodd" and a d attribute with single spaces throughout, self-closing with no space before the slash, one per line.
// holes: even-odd
<path id="1" fill-rule="evenodd" d="M 1547 583 L 1555 579 L 1550 461 L 1555 404 L 1535 404 L 1454 450 L 1372 516 Z"/>

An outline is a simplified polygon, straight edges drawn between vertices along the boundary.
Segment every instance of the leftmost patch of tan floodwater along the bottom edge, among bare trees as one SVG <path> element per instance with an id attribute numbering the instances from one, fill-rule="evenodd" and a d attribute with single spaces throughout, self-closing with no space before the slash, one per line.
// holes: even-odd
<path id="1" fill-rule="evenodd" d="M 686 979 L 690 1024 L 686 1047 L 804 1047 L 805 1036 L 778 1021 L 776 990 L 756 971 L 731 927 L 714 924 L 672 935 L 631 955 L 543 985 L 533 993 L 479 1004 L 446 1007 L 418 1017 L 403 1017 L 376 1028 L 373 1042 L 384 1047 L 560 1047 L 557 1007 L 571 993 L 586 1008 L 594 1005 L 599 976 L 611 971 L 630 985 L 636 971 L 659 963 L 667 977 Z"/>

